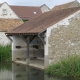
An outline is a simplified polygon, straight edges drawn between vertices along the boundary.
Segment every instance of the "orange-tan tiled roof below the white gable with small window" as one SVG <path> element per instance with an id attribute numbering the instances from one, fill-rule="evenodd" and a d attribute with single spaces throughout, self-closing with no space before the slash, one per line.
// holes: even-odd
<path id="1" fill-rule="evenodd" d="M 0 31 L 8 31 L 23 24 L 19 19 L 0 19 Z"/>

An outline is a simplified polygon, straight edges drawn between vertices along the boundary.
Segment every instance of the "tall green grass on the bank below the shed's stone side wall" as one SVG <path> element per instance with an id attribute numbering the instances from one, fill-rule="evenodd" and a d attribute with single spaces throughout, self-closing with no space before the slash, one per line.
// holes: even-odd
<path id="1" fill-rule="evenodd" d="M 80 78 L 80 55 L 72 55 L 66 59 L 61 59 L 58 63 L 45 69 L 45 73 L 57 77 Z"/>

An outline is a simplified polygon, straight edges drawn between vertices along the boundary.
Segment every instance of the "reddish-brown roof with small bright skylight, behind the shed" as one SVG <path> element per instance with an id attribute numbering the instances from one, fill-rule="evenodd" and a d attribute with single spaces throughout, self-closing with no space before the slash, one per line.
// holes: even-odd
<path id="1" fill-rule="evenodd" d="M 10 7 L 23 20 L 30 20 L 42 13 L 40 7 L 33 6 L 10 6 Z"/>

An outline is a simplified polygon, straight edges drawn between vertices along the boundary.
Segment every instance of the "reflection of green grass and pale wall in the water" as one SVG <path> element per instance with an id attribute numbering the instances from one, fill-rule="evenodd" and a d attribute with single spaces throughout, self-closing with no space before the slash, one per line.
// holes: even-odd
<path id="1" fill-rule="evenodd" d="M 0 80 L 12 80 L 11 63 L 0 63 Z"/>

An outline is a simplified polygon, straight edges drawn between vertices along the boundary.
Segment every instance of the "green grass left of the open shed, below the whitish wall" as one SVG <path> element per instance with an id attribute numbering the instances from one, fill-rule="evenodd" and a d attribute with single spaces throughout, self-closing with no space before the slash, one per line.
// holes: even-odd
<path id="1" fill-rule="evenodd" d="M 0 45 L 0 61 L 11 61 L 11 46 Z"/>

